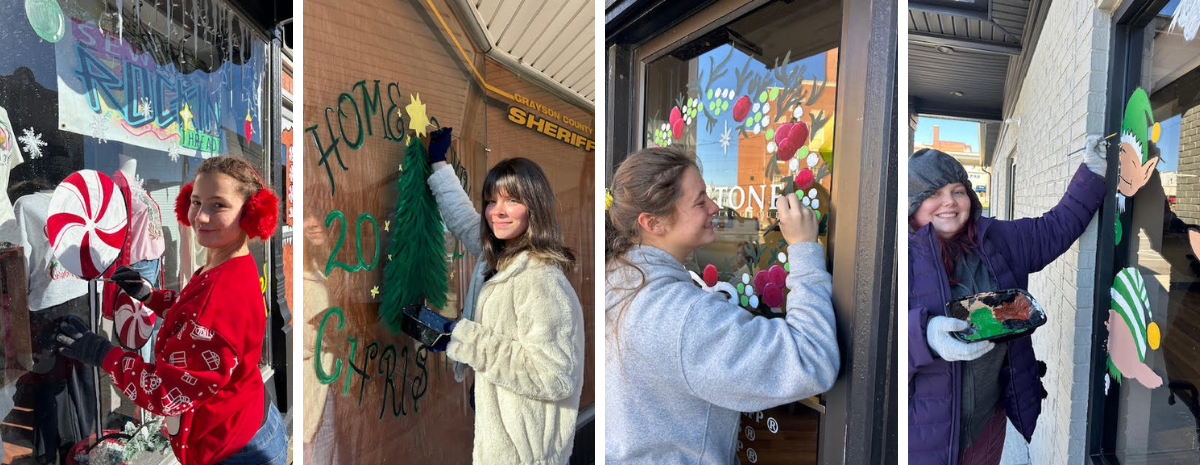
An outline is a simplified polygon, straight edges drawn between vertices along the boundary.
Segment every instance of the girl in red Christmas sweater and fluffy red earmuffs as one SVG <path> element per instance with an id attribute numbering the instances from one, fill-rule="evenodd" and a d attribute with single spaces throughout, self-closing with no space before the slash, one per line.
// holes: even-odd
<path id="1" fill-rule="evenodd" d="M 184 465 L 287 460 L 287 428 L 258 370 L 266 308 L 247 247 L 274 232 L 277 212 L 278 199 L 250 163 L 204 161 L 175 199 L 175 216 L 208 249 L 205 265 L 178 294 L 151 289 L 128 267 L 112 278 L 163 319 L 154 363 L 78 320 L 59 327 L 64 355 L 100 367 L 130 400 L 167 417 Z"/>

